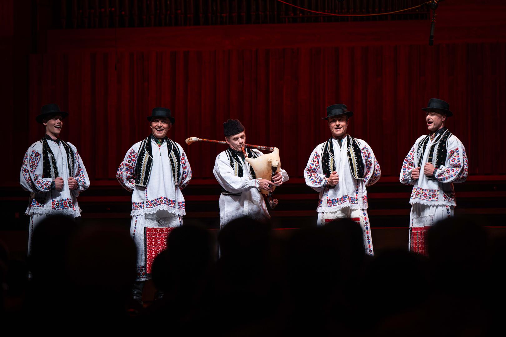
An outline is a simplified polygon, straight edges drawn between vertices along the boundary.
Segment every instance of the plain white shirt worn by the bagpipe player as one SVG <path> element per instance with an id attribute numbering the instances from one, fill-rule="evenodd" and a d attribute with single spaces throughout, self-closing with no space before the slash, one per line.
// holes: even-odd
<path id="1" fill-rule="evenodd" d="M 258 150 L 252 151 L 255 151 L 259 156 L 263 155 Z M 234 174 L 226 151 L 221 152 L 216 157 L 213 169 L 216 180 L 228 192 L 240 193 L 239 196 L 220 195 L 220 226 L 243 216 L 249 216 L 258 220 L 269 219 L 271 217 L 267 211 L 264 197 L 257 188 L 259 186 L 258 179 L 253 179 L 251 176 L 249 163 L 240 161 L 236 162 L 237 164 L 242 165 L 243 177 L 238 177 Z M 281 169 L 280 172 L 283 182 L 287 181 L 289 178 L 286 171 Z"/>

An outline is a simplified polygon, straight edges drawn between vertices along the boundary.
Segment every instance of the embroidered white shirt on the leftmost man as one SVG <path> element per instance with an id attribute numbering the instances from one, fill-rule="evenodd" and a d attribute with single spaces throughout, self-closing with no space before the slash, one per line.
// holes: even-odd
<path id="1" fill-rule="evenodd" d="M 43 157 L 42 157 L 42 142 L 37 141 L 33 143 L 28 151 L 25 153 L 21 172 L 19 175 L 19 182 L 24 190 L 31 192 L 30 204 L 26 209 L 25 214 L 62 214 L 72 217 L 78 217 L 81 214 L 81 209 L 77 203 L 79 192 L 86 190 L 90 187 L 90 179 L 86 172 L 85 165 L 82 163 L 81 157 L 77 153 L 77 149 L 70 143 L 66 142 L 74 152 L 74 179 L 78 183 L 77 189 L 70 190 L 68 187 L 68 165 L 67 153 L 60 141 L 48 140 L 48 145 L 55 157 L 58 173 L 63 178 L 63 189 L 51 189 L 53 179 L 43 178 Z M 55 177 L 57 178 L 57 177 Z"/>

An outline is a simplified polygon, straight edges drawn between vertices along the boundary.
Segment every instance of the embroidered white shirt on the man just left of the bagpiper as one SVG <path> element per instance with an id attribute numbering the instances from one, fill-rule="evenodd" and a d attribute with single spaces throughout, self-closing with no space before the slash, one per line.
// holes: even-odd
<path id="1" fill-rule="evenodd" d="M 158 147 L 153 137 L 150 137 L 150 139 L 153 165 L 146 187 L 135 185 L 135 165 L 142 141 L 135 143 L 126 152 L 116 172 L 116 178 L 121 186 L 132 192 L 132 212 L 130 215 L 154 214 L 158 210 L 165 210 L 176 215 L 185 215 L 186 203 L 181 190 L 186 187 L 192 177 L 188 158 L 183 148 L 176 143 L 180 153 L 181 171 L 179 172 L 178 182 L 175 184 L 171 162 L 168 159 L 167 142 L 163 141 L 161 147 Z"/>

